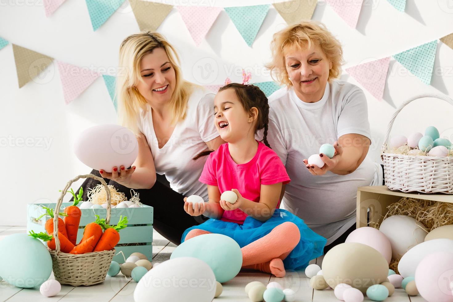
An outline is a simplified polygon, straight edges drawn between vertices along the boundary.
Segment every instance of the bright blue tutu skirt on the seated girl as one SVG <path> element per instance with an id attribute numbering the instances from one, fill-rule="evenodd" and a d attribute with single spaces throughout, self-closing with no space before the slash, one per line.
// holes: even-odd
<path id="1" fill-rule="evenodd" d="M 265 222 L 247 216 L 242 225 L 236 222 L 228 222 L 217 219 L 209 219 L 201 225 L 194 225 L 185 230 L 181 243 L 184 242 L 187 233 L 193 229 L 206 230 L 215 234 L 226 235 L 234 239 L 242 248 L 247 244 L 258 240 L 269 234 L 277 225 L 286 221 L 293 222 L 300 231 L 299 244 L 283 260 L 285 269 L 300 270 L 308 266 L 308 262 L 323 254 L 324 245 L 327 240 L 313 232 L 302 219 L 284 209 L 276 209 L 274 215 Z"/>

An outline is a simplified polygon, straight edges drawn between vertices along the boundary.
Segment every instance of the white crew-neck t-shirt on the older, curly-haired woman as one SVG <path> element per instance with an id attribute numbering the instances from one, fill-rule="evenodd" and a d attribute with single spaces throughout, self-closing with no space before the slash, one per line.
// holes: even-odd
<path id="1" fill-rule="evenodd" d="M 269 106 L 267 140 L 291 178 L 283 207 L 330 244 L 355 224 L 357 187 L 380 185 L 376 175 L 381 167 L 365 158 L 353 173 L 328 171 L 315 176 L 303 160 L 319 154 L 322 144 L 333 144 L 344 134 L 371 139 L 365 94 L 351 83 L 334 80 L 327 83 L 322 99 L 315 103 L 301 101 L 292 87 L 285 87 L 269 97 Z"/>

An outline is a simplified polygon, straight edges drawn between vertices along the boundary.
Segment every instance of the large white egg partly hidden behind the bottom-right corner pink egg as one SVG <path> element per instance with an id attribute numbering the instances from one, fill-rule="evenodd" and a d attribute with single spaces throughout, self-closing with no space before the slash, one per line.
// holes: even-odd
<path id="1" fill-rule="evenodd" d="M 453 240 L 451 239 L 433 239 L 415 245 L 410 249 L 398 263 L 398 272 L 403 278 L 415 276 L 415 269 L 420 261 L 435 252 L 452 252 Z"/>

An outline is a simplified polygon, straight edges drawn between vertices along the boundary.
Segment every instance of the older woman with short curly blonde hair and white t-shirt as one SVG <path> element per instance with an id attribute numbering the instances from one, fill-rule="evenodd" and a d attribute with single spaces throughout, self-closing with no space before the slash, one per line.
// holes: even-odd
<path id="1" fill-rule="evenodd" d="M 269 97 L 267 134 L 291 178 L 283 206 L 327 238 L 327 252 L 355 229 L 357 187 L 382 182 L 380 165 L 365 158 L 371 144 L 366 98 L 336 79 L 342 47 L 322 23 L 275 33 L 271 51 L 267 67 L 285 85 Z M 322 168 L 308 164 L 326 143 L 334 145 L 333 158 L 321 153 Z"/>

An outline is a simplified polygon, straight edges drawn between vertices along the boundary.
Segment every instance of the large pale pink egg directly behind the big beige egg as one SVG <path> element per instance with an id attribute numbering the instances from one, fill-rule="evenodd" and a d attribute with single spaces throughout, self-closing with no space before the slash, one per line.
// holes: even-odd
<path id="1" fill-rule="evenodd" d="M 390 240 L 381 231 L 369 226 L 364 226 L 352 231 L 351 234 L 347 236 L 346 242 L 358 242 L 371 246 L 381 253 L 387 260 L 387 263 L 390 264 L 390 260 L 392 259 L 392 246 Z"/>

